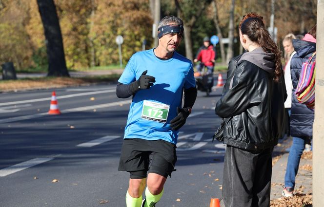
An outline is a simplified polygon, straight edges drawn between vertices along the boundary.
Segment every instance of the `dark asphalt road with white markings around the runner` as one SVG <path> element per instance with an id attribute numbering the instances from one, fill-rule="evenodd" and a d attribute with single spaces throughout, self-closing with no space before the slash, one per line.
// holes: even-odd
<path id="1" fill-rule="evenodd" d="M 198 93 L 157 207 L 221 197 L 223 145 L 211 142 L 221 90 Z M 0 207 L 124 207 L 129 175 L 117 168 L 131 99 L 115 84 L 57 89 L 62 114 L 48 115 L 51 94 L 0 94 Z"/>

